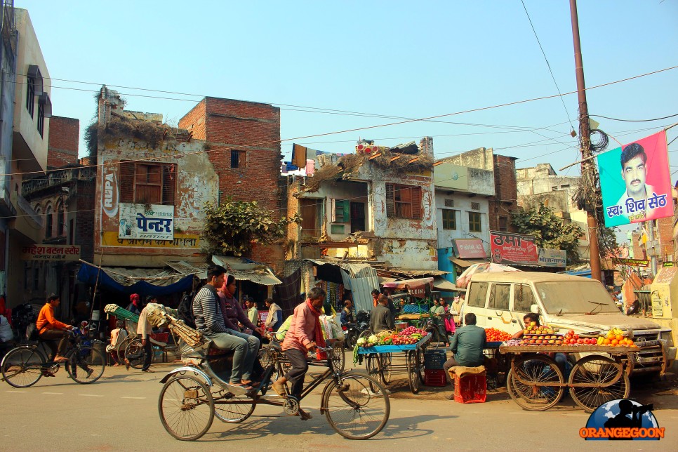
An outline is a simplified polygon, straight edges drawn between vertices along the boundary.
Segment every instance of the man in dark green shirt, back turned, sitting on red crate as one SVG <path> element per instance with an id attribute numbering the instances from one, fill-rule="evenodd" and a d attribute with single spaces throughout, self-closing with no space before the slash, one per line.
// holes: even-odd
<path id="1" fill-rule="evenodd" d="M 469 312 L 464 316 L 466 326 L 459 328 L 452 336 L 450 350 L 453 357 L 445 361 L 443 368 L 445 375 L 450 378 L 449 370 L 454 366 L 477 367 L 482 366 L 485 355 L 483 350 L 487 346 L 485 328 L 476 326 L 476 314 Z M 454 396 L 451 396 L 452 398 Z"/>

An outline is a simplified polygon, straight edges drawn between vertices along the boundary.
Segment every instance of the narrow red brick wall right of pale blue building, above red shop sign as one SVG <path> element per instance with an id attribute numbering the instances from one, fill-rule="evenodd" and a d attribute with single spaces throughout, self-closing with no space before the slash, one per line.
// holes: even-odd
<path id="1" fill-rule="evenodd" d="M 502 216 L 507 217 L 509 232 L 516 232 L 516 228 L 511 224 L 511 213 L 518 205 L 514 158 L 494 154 L 494 187 L 496 196 L 488 200 L 490 230 L 499 230 L 499 217 Z"/>

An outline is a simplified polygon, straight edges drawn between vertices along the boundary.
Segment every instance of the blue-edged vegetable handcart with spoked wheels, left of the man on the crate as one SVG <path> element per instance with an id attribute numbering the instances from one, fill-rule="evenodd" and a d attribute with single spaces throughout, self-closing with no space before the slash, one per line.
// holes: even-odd
<path id="1" fill-rule="evenodd" d="M 365 367 L 368 373 L 383 385 L 391 382 L 392 372 L 406 371 L 412 394 L 418 394 L 421 385 L 424 384 L 424 352 L 431 337 L 429 333 L 416 344 L 358 347 L 358 353 L 366 355 Z M 392 357 L 394 353 L 404 353 L 405 364 L 394 364 Z"/>

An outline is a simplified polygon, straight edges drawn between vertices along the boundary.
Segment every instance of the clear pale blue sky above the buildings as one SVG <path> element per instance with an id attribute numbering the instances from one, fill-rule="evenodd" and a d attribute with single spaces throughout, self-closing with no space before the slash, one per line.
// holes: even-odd
<path id="1" fill-rule="evenodd" d="M 524 5 L 561 93 L 576 91 L 569 1 Z M 578 159 L 578 142 L 569 136 L 570 124 L 578 130 L 576 94 L 298 138 L 398 121 L 375 115 L 432 117 L 557 94 L 520 0 L 16 0 L 15 6 L 29 10 L 54 79 L 53 113 L 80 119 L 81 136 L 95 112 L 94 93 L 107 84 L 123 93 L 128 109 L 162 113 L 174 124 L 204 95 L 278 105 L 286 157 L 292 142 L 352 152 L 359 137 L 392 146 L 430 135 L 439 158 L 493 147 L 518 157 L 519 168 L 550 163 L 556 171 Z M 678 65 L 677 0 L 580 0 L 578 10 L 587 87 Z M 595 88 L 587 93 L 589 112 L 667 117 L 678 113 L 677 86 L 672 69 Z M 678 122 L 594 119 L 623 143 Z M 668 139 L 677 135 L 678 126 Z"/>

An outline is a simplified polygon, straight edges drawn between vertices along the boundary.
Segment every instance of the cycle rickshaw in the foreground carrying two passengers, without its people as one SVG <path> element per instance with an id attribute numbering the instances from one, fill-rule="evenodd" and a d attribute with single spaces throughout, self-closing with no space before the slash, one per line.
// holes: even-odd
<path id="1" fill-rule="evenodd" d="M 258 404 L 281 406 L 285 413 L 294 416 L 299 414 L 300 401 L 325 380 L 329 381 L 322 391 L 320 413 L 338 434 L 347 439 L 368 439 L 386 425 L 390 401 L 385 388 L 368 375 L 340 373 L 334 367 L 333 347 L 318 347 L 328 357 L 323 361 L 312 360 L 310 365 L 326 366 L 327 370 L 305 385 L 299 399 L 290 395 L 287 384 L 284 396 L 267 395 L 272 375 L 282 375 L 288 361 L 276 343 L 265 347 L 271 364 L 258 387 L 249 392 L 229 385 L 213 371 L 210 362 L 226 356 L 223 351 L 210 354 L 209 344 L 203 350 L 194 349 L 202 359 L 194 359 L 191 365 L 175 369 L 161 380 L 164 386 L 158 409 L 165 430 L 176 439 L 194 441 L 209 430 L 215 417 L 224 423 L 241 423 Z"/>

